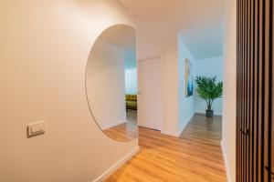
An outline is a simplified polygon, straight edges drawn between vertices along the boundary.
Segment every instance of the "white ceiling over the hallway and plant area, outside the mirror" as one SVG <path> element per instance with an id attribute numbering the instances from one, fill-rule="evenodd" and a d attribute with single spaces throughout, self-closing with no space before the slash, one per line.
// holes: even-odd
<path id="1" fill-rule="evenodd" d="M 196 59 L 222 56 L 225 0 L 118 0 L 137 25 L 138 38 L 181 33 Z"/>

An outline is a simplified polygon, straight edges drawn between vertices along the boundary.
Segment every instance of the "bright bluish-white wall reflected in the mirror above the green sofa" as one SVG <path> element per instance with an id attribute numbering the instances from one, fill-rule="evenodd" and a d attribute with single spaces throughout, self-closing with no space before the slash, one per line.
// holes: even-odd
<path id="1" fill-rule="evenodd" d="M 137 68 L 125 69 L 125 93 L 137 94 Z"/>

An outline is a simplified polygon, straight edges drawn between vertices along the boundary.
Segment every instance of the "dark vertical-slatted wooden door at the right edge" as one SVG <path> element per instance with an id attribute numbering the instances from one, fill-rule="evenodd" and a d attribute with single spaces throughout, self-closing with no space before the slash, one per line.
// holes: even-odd
<path id="1" fill-rule="evenodd" d="M 273 0 L 237 0 L 237 181 L 274 182 Z"/>

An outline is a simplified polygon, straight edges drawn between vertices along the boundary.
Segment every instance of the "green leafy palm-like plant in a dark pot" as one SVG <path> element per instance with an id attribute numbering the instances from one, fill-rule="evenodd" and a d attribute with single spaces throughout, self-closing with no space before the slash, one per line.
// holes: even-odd
<path id="1" fill-rule="evenodd" d="M 196 92 L 206 102 L 205 116 L 213 117 L 212 104 L 216 98 L 223 95 L 223 82 L 216 82 L 216 76 L 196 76 L 195 83 L 197 85 Z"/>

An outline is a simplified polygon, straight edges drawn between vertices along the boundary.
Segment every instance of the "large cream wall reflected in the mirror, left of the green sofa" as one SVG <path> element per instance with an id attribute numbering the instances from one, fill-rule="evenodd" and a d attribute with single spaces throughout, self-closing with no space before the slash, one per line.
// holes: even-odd
<path id="1" fill-rule="evenodd" d="M 90 109 L 101 129 L 126 122 L 125 51 L 96 41 L 87 65 L 86 87 Z"/>

